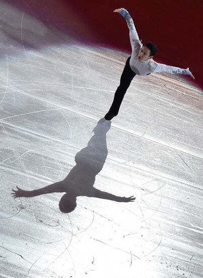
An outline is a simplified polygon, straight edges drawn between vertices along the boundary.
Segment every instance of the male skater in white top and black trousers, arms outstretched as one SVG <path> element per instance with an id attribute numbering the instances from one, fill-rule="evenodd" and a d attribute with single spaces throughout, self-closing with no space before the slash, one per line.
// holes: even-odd
<path id="1" fill-rule="evenodd" d="M 114 12 L 123 16 L 127 22 L 132 54 L 125 63 L 120 78 L 120 85 L 115 92 L 113 103 L 108 113 L 104 116 L 105 120 L 111 120 L 118 114 L 125 92 L 136 74 L 149 75 L 152 72 L 168 72 L 171 74 L 187 74 L 194 79 L 189 68 L 181 69 L 155 62 L 153 56 L 157 52 L 156 44 L 153 42 L 147 42 L 143 45 L 141 43 L 136 28 L 134 27 L 133 20 L 127 10 L 121 8 L 116 9 Z"/>

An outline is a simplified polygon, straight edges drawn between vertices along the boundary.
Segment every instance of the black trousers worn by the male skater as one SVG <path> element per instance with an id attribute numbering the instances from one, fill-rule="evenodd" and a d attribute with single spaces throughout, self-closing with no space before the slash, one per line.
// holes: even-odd
<path id="1" fill-rule="evenodd" d="M 120 85 L 117 87 L 117 90 L 115 91 L 114 99 L 113 99 L 112 105 L 108 112 L 114 116 L 116 116 L 118 114 L 118 111 L 119 111 L 120 105 L 122 103 L 122 100 L 124 98 L 125 92 L 126 92 L 127 88 L 129 87 L 133 77 L 136 76 L 136 73 L 134 73 L 129 66 L 129 60 L 130 60 L 130 57 L 127 58 L 125 67 L 124 67 L 122 75 L 120 77 Z"/>

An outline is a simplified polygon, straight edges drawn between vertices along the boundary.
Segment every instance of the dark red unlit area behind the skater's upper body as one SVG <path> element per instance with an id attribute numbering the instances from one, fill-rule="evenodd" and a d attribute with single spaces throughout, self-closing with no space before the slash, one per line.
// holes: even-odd
<path id="1" fill-rule="evenodd" d="M 134 20 L 140 38 L 158 45 L 156 59 L 168 65 L 189 67 L 203 88 L 202 0 L 20 0 L 6 1 L 88 44 L 130 52 L 125 20 L 113 10 L 124 7 Z"/>

